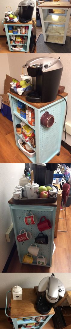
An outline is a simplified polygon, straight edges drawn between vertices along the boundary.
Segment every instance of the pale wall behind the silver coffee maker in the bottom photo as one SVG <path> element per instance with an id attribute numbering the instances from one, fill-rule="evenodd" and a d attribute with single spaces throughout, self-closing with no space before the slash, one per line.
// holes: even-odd
<path id="1" fill-rule="evenodd" d="M 44 277 L 51 276 L 51 273 L 0 273 L 0 307 L 5 307 L 6 292 L 11 290 L 12 287 L 18 285 L 22 288 L 34 288 L 38 286 L 40 280 Z M 71 273 L 55 273 L 65 287 L 65 291 L 71 290 Z M 10 296 L 8 303 L 10 302 Z"/>

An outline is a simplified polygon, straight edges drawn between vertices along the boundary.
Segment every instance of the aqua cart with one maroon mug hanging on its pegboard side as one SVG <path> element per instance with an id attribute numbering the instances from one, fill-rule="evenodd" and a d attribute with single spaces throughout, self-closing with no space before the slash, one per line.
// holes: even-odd
<path id="1" fill-rule="evenodd" d="M 56 100 L 49 103 L 29 103 L 26 101 L 24 96 L 19 96 L 18 94 L 8 91 L 11 112 L 12 112 L 12 121 L 13 129 L 15 135 L 16 145 L 22 152 L 24 152 L 23 147 L 20 145 L 20 141 L 24 140 L 22 135 L 17 134 L 16 124 L 21 121 L 28 124 L 31 128 L 35 130 L 35 143 L 36 147 L 33 148 L 29 142 L 27 144 L 33 149 L 33 157 L 27 153 L 27 157 L 32 163 L 48 163 L 55 155 L 60 152 L 61 147 L 61 138 L 63 132 L 63 124 L 65 118 L 65 108 L 66 103 L 63 98 L 57 96 Z M 68 93 L 63 92 L 62 96 L 67 99 Z M 35 110 L 35 126 L 31 126 L 26 119 L 20 116 L 20 113 L 17 113 L 17 102 L 20 100 L 22 103 L 28 105 L 29 107 Z M 50 114 L 54 115 L 55 122 L 51 128 L 46 128 L 41 126 L 40 118 L 42 114 L 48 111 Z M 22 139 L 22 140 L 21 140 Z"/>

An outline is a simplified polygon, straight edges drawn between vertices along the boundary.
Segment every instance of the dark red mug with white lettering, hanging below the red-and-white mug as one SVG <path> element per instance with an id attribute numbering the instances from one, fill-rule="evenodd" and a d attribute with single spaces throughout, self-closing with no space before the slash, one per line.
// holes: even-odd
<path id="1" fill-rule="evenodd" d="M 24 231 L 24 233 L 21 233 Z M 17 241 L 18 242 L 24 242 L 26 240 L 31 240 L 32 239 L 32 234 L 29 231 L 21 230 L 19 235 L 17 235 Z"/>

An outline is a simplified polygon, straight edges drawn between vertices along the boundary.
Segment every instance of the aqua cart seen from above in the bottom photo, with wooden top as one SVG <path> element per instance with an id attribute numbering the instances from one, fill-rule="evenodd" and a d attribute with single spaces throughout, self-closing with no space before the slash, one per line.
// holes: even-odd
<path id="1" fill-rule="evenodd" d="M 8 293 L 11 292 L 11 319 L 14 325 L 15 329 L 18 329 L 18 325 L 21 324 L 22 325 L 22 329 L 25 328 L 25 324 L 30 324 L 30 323 L 37 323 L 36 320 L 34 320 L 34 318 L 32 320 L 29 320 L 28 317 L 36 317 L 36 316 L 41 316 L 40 313 L 38 313 L 37 309 L 36 309 L 36 295 L 34 292 L 34 289 L 22 289 L 22 300 L 13 300 L 12 297 L 12 290 L 7 292 Z M 7 295 L 6 295 L 6 316 L 9 317 L 7 315 Z M 37 328 L 43 328 L 44 325 L 51 319 L 51 317 L 55 314 L 55 311 L 53 308 L 51 308 L 51 311 L 46 314 L 46 319 L 43 320 L 41 319 L 41 321 L 38 323 L 38 327 Z M 42 317 L 42 316 L 41 316 Z M 18 320 L 19 318 L 19 320 Z M 22 319 L 21 319 L 22 318 Z M 26 321 L 24 321 L 24 319 L 27 318 Z M 35 325 L 33 326 L 33 328 L 35 328 Z"/>

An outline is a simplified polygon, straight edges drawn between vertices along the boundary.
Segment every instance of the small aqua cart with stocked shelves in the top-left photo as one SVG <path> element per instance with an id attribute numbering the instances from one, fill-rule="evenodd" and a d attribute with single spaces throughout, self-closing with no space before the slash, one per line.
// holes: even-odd
<path id="1" fill-rule="evenodd" d="M 4 18 L 4 20 L 5 20 L 5 18 Z M 2 21 L 2 23 L 4 24 L 4 28 L 5 28 L 5 32 L 6 32 L 6 36 L 7 36 L 7 41 L 8 41 L 8 45 L 9 45 L 9 50 L 10 51 L 15 51 L 15 52 L 18 52 L 18 51 L 20 51 L 20 52 L 28 52 L 29 51 L 29 45 L 30 45 L 30 38 L 31 38 L 31 31 L 32 31 L 32 21 L 30 21 L 29 23 L 20 23 L 20 22 L 17 22 L 17 23 L 11 23 L 11 22 L 4 22 L 4 20 Z M 9 33 L 9 30 L 8 30 L 8 26 L 16 26 L 16 27 L 18 27 L 18 26 L 29 26 L 29 30 L 28 30 L 28 34 L 14 34 L 14 33 Z M 19 50 L 19 48 L 18 48 L 18 50 L 13 50 L 12 49 L 12 45 L 15 45 L 15 41 L 13 41 L 13 43 L 12 44 L 10 44 L 10 37 L 11 37 L 11 35 L 12 36 L 23 36 L 23 37 L 28 37 L 28 39 L 27 39 L 27 44 L 21 44 L 22 45 L 22 49 L 21 50 Z"/>

